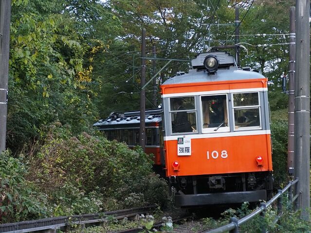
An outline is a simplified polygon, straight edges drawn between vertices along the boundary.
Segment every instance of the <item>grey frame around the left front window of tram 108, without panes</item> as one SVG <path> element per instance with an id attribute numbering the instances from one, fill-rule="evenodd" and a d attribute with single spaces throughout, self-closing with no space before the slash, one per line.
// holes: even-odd
<path id="1" fill-rule="evenodd" d="M 174 98 L 187 98 L 187 97 L 193 97 L 194 99 L 194 109 L 184 109 L 184 110 L 171 110 L 171 99 Z M 193 134 L 193 133 L 199 133 L 198 130 L 198 108 L 197 108 L 197 100 L 196 100 L 195 95 L 189 95 L 189 96 L 172 96 L 168 98 L 168 119 L 169 121 L 167 122 L 169 124 L 169 129 L 171 135 L 181 135 L 181 134 Z M 186 113 L 194 113 L 196 116 L 196 131 L 195 132 L 181 132 L 181 133 L 173 133 L 173 128 L 172 128 L 172 113 L 178 113 L 178 112 L 186 112 Z"/>

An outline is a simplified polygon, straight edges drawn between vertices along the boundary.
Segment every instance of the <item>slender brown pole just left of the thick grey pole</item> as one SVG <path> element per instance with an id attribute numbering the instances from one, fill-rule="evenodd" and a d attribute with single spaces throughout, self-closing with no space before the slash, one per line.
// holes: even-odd
<path id="1" fill-rule="evenodd" d="M 287 147 L 287 168 L 289 174 L 294 170 L 294 77 L 295 77 L 295 7 L 290 8 L 290 61 L 289 61 L 289 91 L 288 91 L 288 147 Z"/>

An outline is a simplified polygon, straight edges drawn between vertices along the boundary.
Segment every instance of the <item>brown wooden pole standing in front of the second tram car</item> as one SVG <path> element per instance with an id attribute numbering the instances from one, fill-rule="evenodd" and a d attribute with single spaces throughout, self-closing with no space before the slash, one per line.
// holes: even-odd
<path id="1" fill-rule="evenodd" d="M 142 29 L 142 57 L 146 56 L 146 29 Z M 146 59 L 142 58 L 141 78 L 140 78 L 140 129 L 139 129 L 139 145 L 145 151 L 145 111 L 146 111 L 146 89 L 143 88 L 146 83 Z"/>

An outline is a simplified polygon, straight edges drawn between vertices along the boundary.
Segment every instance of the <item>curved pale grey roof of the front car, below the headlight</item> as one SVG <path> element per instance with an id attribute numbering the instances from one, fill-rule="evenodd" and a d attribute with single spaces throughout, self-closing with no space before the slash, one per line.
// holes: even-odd
<path id="1" fill-rule="evenodd" d="M 182 83 L 204 83 L 204 82 L 220 82 L 233 80 L 250 80 L 265 78 L 262 74 L 255 71 L 238 69 L 230 67 L 229 69 L 218 69 L 215 74 L 208 74 L 207 71 L 189 70 L 189 73 L 181 73 L 166 80 L 162 85 L 166 84 L 182 84 Z"/>

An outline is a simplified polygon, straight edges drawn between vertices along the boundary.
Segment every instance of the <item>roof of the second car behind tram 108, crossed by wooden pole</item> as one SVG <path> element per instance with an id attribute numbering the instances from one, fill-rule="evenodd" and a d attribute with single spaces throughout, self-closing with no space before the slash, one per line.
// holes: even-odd
<path id="1" fill-rule="evenodd" d="M 162 109 L 146 110 L 145 123 L 157 123 L 162 121 Z M 140 111 L 131 111 L 126 113 L 111 113 L 106 119 L 97 121 L 93 126 L 99 129 L 113 129 L 116 126 L 128 127 L 140 123 Z"/>

